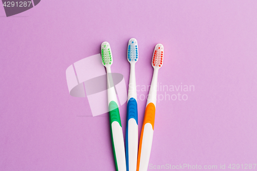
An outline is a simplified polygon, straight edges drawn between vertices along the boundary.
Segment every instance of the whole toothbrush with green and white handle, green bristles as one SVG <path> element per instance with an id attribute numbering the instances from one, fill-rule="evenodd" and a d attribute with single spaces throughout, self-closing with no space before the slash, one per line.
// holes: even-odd
<path id="1" fill-rule="evenodd" d="M 126 171 L 125 147 L 118 108 L 118 100 L 114 88 L 111 66 L 113 64 L 112 50 L 108 42 L 101 45 L 102 64 L 106 68 L 107 95 L 111 139 L 113 146 L 114 162 L 117 171 Z"/>

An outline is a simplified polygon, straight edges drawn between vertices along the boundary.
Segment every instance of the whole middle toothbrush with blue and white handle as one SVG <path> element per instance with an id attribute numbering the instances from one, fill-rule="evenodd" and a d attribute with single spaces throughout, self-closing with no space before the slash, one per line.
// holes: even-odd
<path id="1" fill-rule="evenodd" d="M 127 94 L 126 166 L 127 171 L 137 169 L 138 121 L 135 64 L 138 61 L 138 43 L 130 39 L 127 45 L 127 61 L 130 63 L 130 83 Z"/>

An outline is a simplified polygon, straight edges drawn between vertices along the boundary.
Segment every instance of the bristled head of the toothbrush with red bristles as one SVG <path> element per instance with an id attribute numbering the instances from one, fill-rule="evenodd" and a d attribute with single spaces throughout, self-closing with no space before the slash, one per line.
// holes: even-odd
<path id="1" fill-rule="evenodd" d="M 157 44 L 154 48 L 152 66 L 154 68 L 160 68 L 163 63 L 163 45 Z"/>

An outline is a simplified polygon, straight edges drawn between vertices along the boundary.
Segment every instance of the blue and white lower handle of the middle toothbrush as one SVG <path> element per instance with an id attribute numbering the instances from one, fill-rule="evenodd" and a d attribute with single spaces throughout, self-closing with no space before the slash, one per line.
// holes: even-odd
<path id="1" fill-rule="evenodd" d="M 137 101 L 130 98 L 127 102 L 126 119 L 126 167 L 127 171 L 135 171 L 137 168 L 138 148 L 138 119 Z"/>

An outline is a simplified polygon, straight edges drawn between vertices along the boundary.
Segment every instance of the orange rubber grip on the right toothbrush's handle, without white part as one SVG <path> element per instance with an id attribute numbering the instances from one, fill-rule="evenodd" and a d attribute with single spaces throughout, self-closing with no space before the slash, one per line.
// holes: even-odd
<path id="1" fill-rule="evenodd" d="M 143 132 L 144 132 L 144 125 L 146 123 L 150 123 L 154 129 L 154 118 L 155 118 L 155 105 L 153 103 L 149 103 L 144 111 L 144 120 L 141 130 L 140 142 L 139 142 L 139 149 L 138 149 L 138 158 L 137 158 L 137 171 L 139 171 L 139 164 L 140 164 L 140 157 L 141 157 L 141 148 L 142 148 L 142 141 L 143 141 Z"/>

